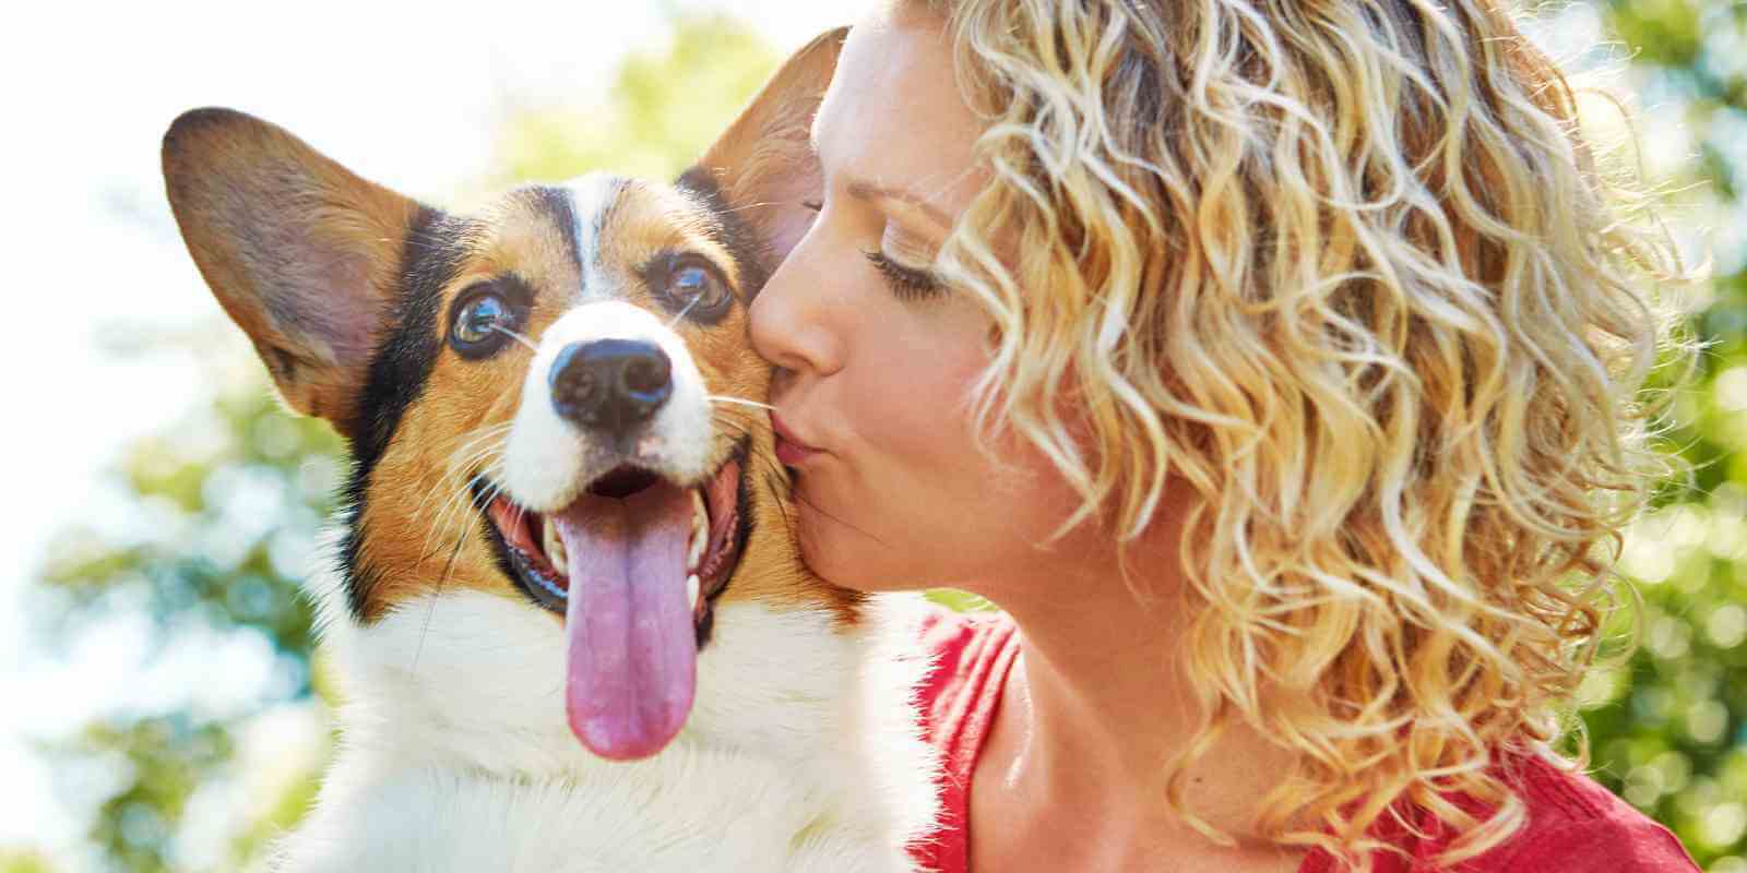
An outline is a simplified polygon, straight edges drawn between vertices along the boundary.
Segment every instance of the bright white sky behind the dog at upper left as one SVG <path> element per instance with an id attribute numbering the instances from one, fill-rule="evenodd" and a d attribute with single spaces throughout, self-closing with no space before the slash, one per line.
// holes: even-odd
<path id="1" fill-rule="evenodd" d="M 210 695 L 241 695 L 262 681 L 248 665 L 267 662 L 194 641 L 143 674 L 148 630 L 128 622 L 65 653 L 23 639 L 23 592 L 49 534 L 98 512 L 105 466 L 129 440 L 175 421 L 210 379 L 185 356 L 105 351 L 117 337 L 224 325 L 162 196 L 159 138 L 176 113 L 241 108 L 369 178 L 442 201 L 486 173 L 494 108 L 587 101 L 622 52 L 662 45 L 671 10 L 730 10 L 786 49 L 847 23 L 861 5 L 496 0 L 463 12 L 306 0 L 17 10 L 0 52 L 0 190 L 9 206 L 0 239 L 12 251 L 5 299 L 21 318 L 37 307 L 49 314 L 0 344 L 9 419 L 0 449 L 12 494 L 0 510 L 0 849 L 35 845 L 66 870 L 80 868 L 66 852 L 77 821 L 52 800 L 51 773 L 28 754 L 26 737 L 185 693 L 194 676 L 220 683 Z M 222 677 L 201 669 L 215 658 L 239 669 Z M 262 730 L 297 735 L 285 725 Z M 65 789 L 77 773 L 58 777 Z M 84 779 L 101 782 L 101 773 Z"/>

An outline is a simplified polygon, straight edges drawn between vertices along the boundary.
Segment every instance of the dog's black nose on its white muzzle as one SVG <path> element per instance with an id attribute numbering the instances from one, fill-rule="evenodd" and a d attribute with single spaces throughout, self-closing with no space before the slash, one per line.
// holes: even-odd
<path id="1" fill-rule="evenodd" d="M 559 416 L 620 436 L 673 395 L 667 353 L 629 339 L 571 342 L 559 349 L 547 379 Z"/>

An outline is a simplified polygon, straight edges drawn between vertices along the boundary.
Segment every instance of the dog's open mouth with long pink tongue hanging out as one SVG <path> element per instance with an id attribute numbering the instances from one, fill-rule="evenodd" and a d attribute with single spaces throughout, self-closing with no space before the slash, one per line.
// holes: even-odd
<path id="1" fill-rule="evenodd" d="M 484 506 L 510 574 L 564 615 L 571 730 L 596 754 L 646 758 L 685 725 L 716 599 L 739 564 L 741 461 L 681 487 L 636 466 L 570 506 Z"/>

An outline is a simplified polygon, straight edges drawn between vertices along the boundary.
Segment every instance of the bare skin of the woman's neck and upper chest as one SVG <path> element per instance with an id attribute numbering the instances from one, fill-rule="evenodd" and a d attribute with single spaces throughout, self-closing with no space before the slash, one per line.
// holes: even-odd
<path id="1" fill-rule="evenodd" d="M 1106 829 L 1104 845 L 1162 836 L 1177 856 L 1195 842 L 1225 852 L 1170 812 L 1162 779 L 1197 730 L 1177 655 L 1184 609 L 1174 531 L 1130 548 L 1132 587 L 1113 553 L 1090 559 L 1097 548 L 1059 543 L 1048 552 L 1055 560 L 1036 562 L 1032 578 L 980 592 L 1013 616 L 1022 643 L 975 789 L 1031 805 L 1005 810 L 1022 821 L 1095 810 L 1088 824 Z M 1289 768 L 1284 749 L 1233 725 L 1190 766 L 1186 800 L 1204 822 L 1254 850 L 1256 807 Z"/>

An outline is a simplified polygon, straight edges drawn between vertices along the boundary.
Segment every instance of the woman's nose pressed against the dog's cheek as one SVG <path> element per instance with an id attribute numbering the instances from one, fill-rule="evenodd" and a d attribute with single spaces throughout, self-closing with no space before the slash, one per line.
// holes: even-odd
<path id="1" fill-rule="evenodd" d="M 832 328 L 832 281 L 821 271 L 816 234 L 802 237 L 753 299 L 753 349 L 797 375 L 830 375 L 842 367 Z"/>

